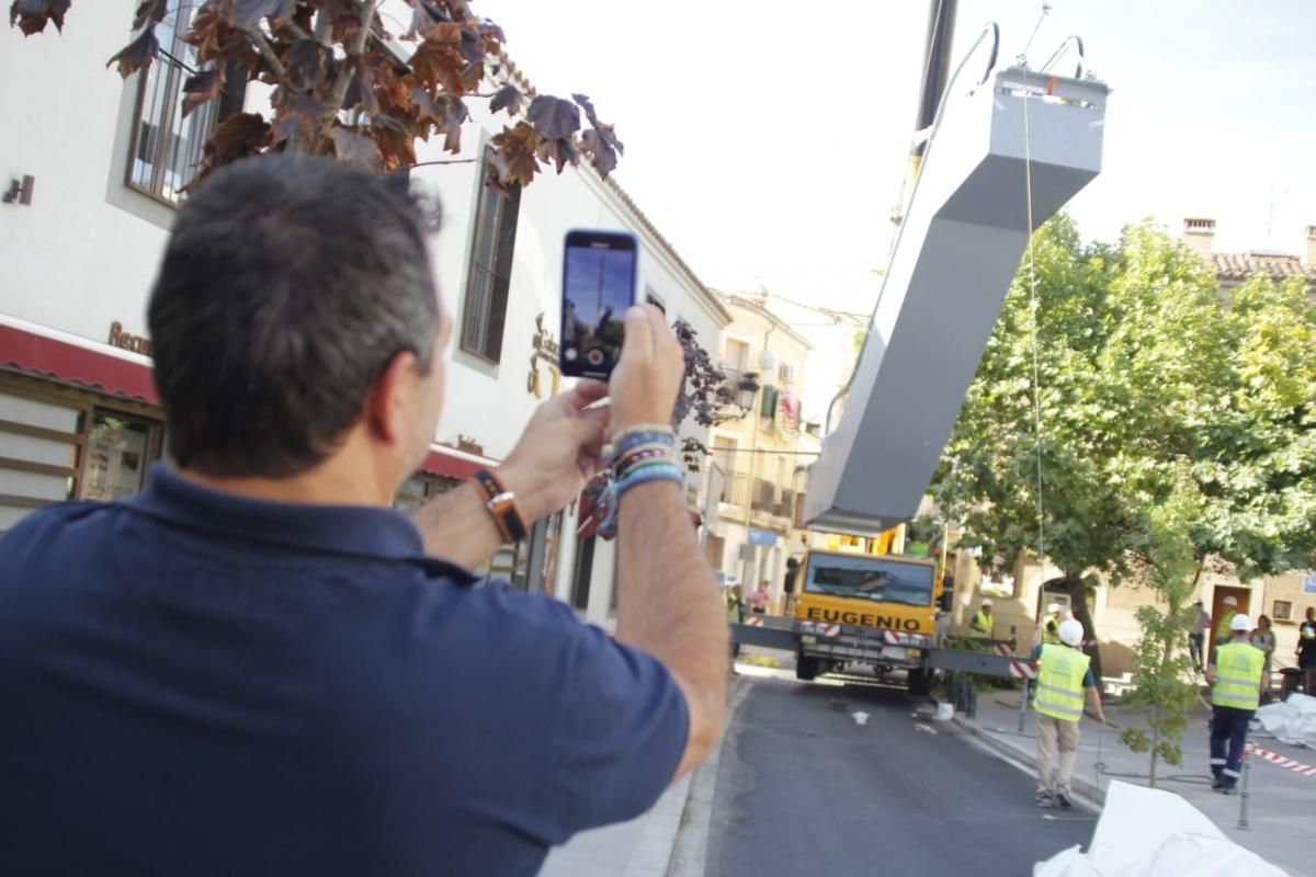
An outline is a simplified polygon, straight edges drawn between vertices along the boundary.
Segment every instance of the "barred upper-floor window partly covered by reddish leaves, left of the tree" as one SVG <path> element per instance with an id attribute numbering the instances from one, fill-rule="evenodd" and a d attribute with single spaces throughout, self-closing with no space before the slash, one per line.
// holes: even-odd
<path id="1" fill-rule="evenodd" d="M 183 117 L 183 84 L 199 72 L 196 47 L 183 42 L 193 9 L 179 4 L 155 29 L 161 53 L 139 76 L 128 164 L 129 187 L 175 205 L 200 168 L 216 113 L 211 101 Z"/>

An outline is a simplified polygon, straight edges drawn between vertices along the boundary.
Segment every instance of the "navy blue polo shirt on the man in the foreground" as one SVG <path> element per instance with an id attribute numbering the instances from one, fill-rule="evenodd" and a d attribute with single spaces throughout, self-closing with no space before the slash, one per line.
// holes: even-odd
<path id="1" fill-rule="evenodd" d="M 533 874 L 687 728 L 657 660 L 391 510 L 157 467 L 0 540 L 0 873 Z"/>

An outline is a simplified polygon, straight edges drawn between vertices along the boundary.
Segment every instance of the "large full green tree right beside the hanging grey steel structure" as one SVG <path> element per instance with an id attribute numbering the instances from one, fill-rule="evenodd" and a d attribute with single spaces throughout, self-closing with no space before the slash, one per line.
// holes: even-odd
<path id="1" fill-rule="evenodd" d="M 1200 381 L 1223 373 L 1220 312 L 1200 260 L 1146 225 L 1115 247 L 1083 245 L 1061 214 L 1030 252 L 933 494 L 990 568 L 1020 555 L 1058 567 L 1048 584 L 1094 642 L 1088 594 L 1146 555 L 1150 514 L 1173 489 L 1165 462 L 1191 448 Z"/>

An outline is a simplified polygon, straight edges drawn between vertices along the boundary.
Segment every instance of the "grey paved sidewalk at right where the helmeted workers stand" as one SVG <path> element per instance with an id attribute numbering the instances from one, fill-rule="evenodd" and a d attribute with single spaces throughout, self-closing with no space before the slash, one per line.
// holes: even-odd
<path id="1" fill-rule="evenodd" d="M 1130 707 L 1107 706 L 1111 726 L 1101 728 L 1084 717 L 1079 736 L 1078 765 L 1074 769 L 1074 792 L 1095 802 L 1105 798 L 1109 781 L 1124 780 L 1146 785 L 1150 764 L 1146 753 L 1137 755 L 1120 744 L 1120 728 L 1137 723 L 1137 711 Z M 1211 790 L 1208 767 L 1208 732 L 1204 707 L 1194 710 L 1183 735 L 1183 763 L 1178 767 L 1157 765 L 1157 788 L 1174 792 L 1205 814 L 1234 843 L 1283 868 L 1292 877 L 1316 877 L 1316 855 L 1312 848 L 1316 826 L 1316 777 L 1305 777 L 1269 764 L 1259 757 L 1249 757 L 1252 765 L 1248 798 L 1250 828 L 1238 828 L 1242 795 L 1225 797 Z M 955 723 L 988 748 L 1013 760 L 1029 772 L 1036 757 L 1033 739 L 1033 713 L 1024 718 L 1024 734 L 1019 728 L 1019 692 L 983 692 L 978 698 L 978 715 L 967 719 L 955 715 Z M 1316 764 L 1316 751 L 1284 746 L 1265 731 L 1254 734 L 1253 743 L 1270 752 L 1305 764 Z"/>

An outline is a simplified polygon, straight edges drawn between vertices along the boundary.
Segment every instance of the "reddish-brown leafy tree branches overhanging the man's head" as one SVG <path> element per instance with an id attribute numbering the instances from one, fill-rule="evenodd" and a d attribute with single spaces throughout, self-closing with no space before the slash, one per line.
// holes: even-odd
<path id="1" fill-rule="evenodd" d="M 72 5 L 13 0 L 9 22 L 28 36 L 47 25 L 63 30 L 66 17 L 78 14 Z M 386 25 L 384 5 L 409 18 L 401 33 Z M 179 9 L 176 0 L 141 0 L 133 36 L 109 64 L 125 79 L 149 67 L 161 51 L 157 28 L 176 21 Z M 441 137 L 457 155 L 472 100 L 507 116 L 490 141 L 487 181 L 499 189 L 529 184 L 542 167 L 561 174 L 582 158 L 607 176 L 622 153 L 588 97 L 536 93 L 508 62 L 503 30 L 475 16 L 466 0 L 207 0 L 191 16 L 184 41 L 196 47 L 200 66 L 183 85 L 184 116 L 241 93 L 241 83 L 271 87 L 268 116 L 237 107 L 220 120 L 197 181 L 270 150 L 382 172 L 415 167 L 417 139 Z"/>

